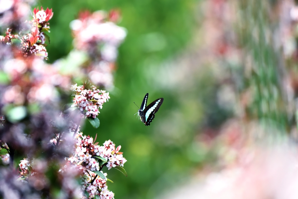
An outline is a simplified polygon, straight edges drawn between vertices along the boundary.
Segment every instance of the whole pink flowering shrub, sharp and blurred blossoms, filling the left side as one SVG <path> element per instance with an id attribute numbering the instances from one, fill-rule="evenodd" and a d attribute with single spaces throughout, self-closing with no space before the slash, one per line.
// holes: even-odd
<path id="1" fill-rule="evenodd" d="M 81 121 L 81 116 L 96 118 L 98 110 L 110 98 L 109 93 L 94 86 L 87 88 L 86 85 L 73 85 L 73 107 L 80 111 L 72 111 L 73 108 L 62 111 L 61 107 L 67 102 L 62 101 L 61 96 L 69 96 L 70 82 L 73 81 L 72 78 L 77 78 L 77 73 L 83 74 L 85 79 L 88 75 L 99 79 L 94 81 L 96 84 L 111 85 L 111 69 L 114 68 L 111 60 L 114 59 L 106 58 L 101 53 L 102 50 L 97 51 L 94 48 L 88 52 L 90 60 L 81 62 L 91 63 L 84 70 L 78 68 L 70 71 L 67 67 L 65 72 L 57 64 L 59 61 L 46 64 L 46 32 L 49 32 L 48 21 L 53 12 L 49 8 L 35 8 L 33 19 L 25 23 L 27 18 L 23 17 L 29 16 L 29 1 L 34 0 L 0 0 L 0 28 L 6 29 L 5 35 L 0 36 L 0 114 L 3 114 L 0 115 L 0 195 L 18 198 L 7 197 L 7 193 L 13 193 L 26 198 L 40 198 L 41 195 L 49 198 L 49 194 L 52 194 L 49 190 L 54 186 L 57 188 L 51 181 L 54 176 L 55 182 L 60 186 L 60 195 L 69 198 L 93 198 L 98 195 L 102 199 L 111 199 L 114 193 L 107 189 L 107 179 L 104 177 L 106 174 L 103 175 L 100 171 L 104 166 L 109 169 L 123 166 L 126 160 L 119 152 L 120 146 L 116 149 L 110 141 L 105 146 L 98 146 L 98 143 L 93 143 L 93 138 L 76 134 L 80 131 L 78 121 Z M 86 19 L 90 16 L 86 16 Z M 118 30 L 113 24 L 115 18 L 117 15 L 114 14 L 110 22 L 100 22 L 105 26 L 100 27 L 97 32 L 97 36 L 102 34 L 103 37 L 94 41 L 96 45 L 110 43 L 117 47 L 120 44 L 121 37 L 113 36 L 116 34 L 113 31 L 122 29 Z M 5 20 L 7 27 L 4 28 Z M 89 44 L 92 44 L 91 40 L 84 43 Z M 87 49 L 88 47 L 76 50 L 83 52 Z M 79 66 L 80 64 L 77 67 Z M 74 141 L 75 135 L 77 137 Z M 77 145 L 75 149 L 74 142 Z M 27 157 L 20 161 L 19 172 L 12 171 L 13 167 L 3 166 L 13 165 L 15 150 L 18 151 L 18 156 Z M 69 154 L 71 158 L 65 160 Z M 60 165 L 60 172 L 50 172 L 57 169 L 57 165 Z M 15 181 L 17 176 L 20 177 L 19 181 Z M 78 182 L 80 178 L 83 179 L 81 184 Z M 26 188 L 19 189 L 21 186 Z M 84 191 L 89 196 L 84 196 Z"/>

